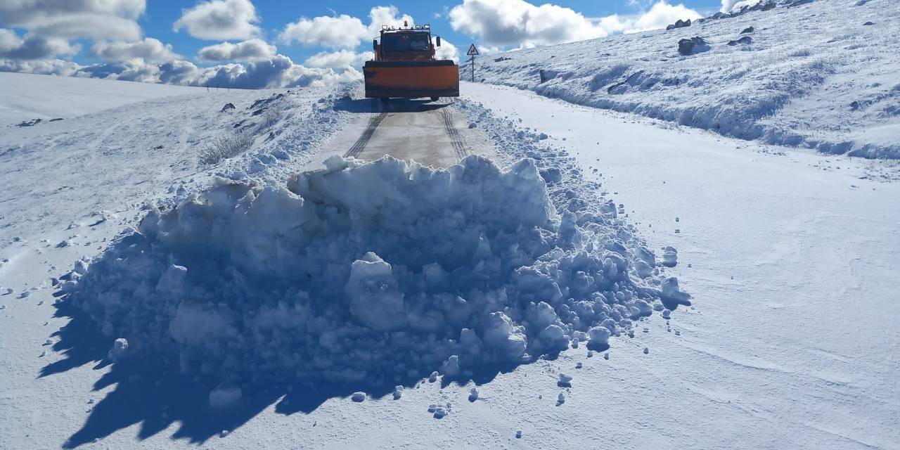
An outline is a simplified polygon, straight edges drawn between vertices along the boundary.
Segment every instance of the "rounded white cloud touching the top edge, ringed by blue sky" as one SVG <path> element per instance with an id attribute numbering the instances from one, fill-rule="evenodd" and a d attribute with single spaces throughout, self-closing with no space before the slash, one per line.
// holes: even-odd
<path id="1" fill-rule="evenodd" d="M 183 10 L 174 29 L 205 40 L 246 40 L 260 34 L 258 22 L 250 0 L 210 0 Z"/>

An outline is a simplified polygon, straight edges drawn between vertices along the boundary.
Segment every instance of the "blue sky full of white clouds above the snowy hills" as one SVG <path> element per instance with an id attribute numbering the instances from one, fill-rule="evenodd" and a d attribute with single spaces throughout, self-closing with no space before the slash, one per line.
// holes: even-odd
<path id="1" fill-rule="evenodd" d="M 361 78 L 382 24 L 431 23 L 458 59 L 665 28 L 752 0 L 0 1 L 0 71 L 260 88 Z M 370 15 L 374 19 L 370 19 Z M 374 23 L 377 22 L 377 23 Z"/>

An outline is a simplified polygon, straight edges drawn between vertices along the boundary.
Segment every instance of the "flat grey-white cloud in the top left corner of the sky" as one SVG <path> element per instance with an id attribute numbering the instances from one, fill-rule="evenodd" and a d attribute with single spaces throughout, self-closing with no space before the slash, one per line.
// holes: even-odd
<path id="1" fill-rule="evenodd" d="M 0 23 L 57 38 L 140 39 L 145 0 L 4 0 Z"/>

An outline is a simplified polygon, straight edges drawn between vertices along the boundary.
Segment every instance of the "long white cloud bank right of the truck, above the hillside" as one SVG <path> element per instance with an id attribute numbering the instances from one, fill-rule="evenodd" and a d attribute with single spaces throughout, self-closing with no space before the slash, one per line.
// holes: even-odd
<path id="1" fill-rule="evenodd" d="M 536 6 L 525 0 L 464 0 L 450 10 L 455 31 L 477 36 L 484 44 L 497 47 L 534 47 L 575 40 L 589 40 L 623 31 L 644 31 L 665 27 L 677 19 L 698 18 L 683 4 L 672 6 L 660 0 L 637 17 L 610 15 L 587 18 L 556 4 Z M 665 22 L 663 21 L 669 21 Z"/>

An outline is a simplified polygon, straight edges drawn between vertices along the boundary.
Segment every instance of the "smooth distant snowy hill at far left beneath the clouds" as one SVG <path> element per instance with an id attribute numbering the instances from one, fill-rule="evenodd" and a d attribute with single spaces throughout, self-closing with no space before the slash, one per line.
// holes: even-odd
<path id="1" fill-rule="evenodd" d="M 0 85 L 0 127 L 33 119 L 71 119 L 127 103 L 206 92 L 200 87 L 11 72 L 0 72 Z"/>

